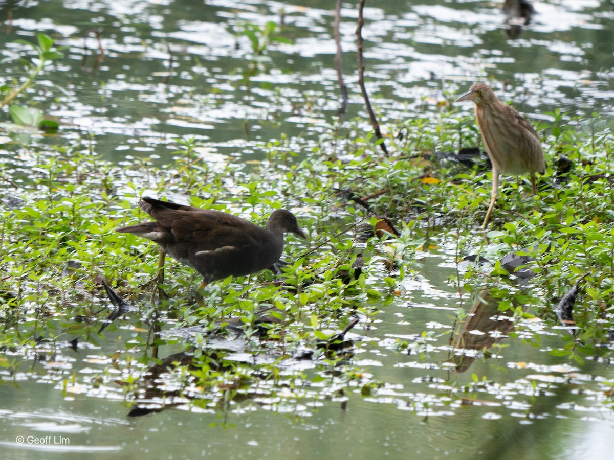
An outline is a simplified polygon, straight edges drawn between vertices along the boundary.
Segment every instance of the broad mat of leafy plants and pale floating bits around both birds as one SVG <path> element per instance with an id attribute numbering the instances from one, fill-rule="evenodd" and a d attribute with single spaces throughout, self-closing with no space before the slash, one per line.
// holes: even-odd
<path id="1" fill-rule="evenodd" d="M 406 131 L 409 144 L 423 134 Z M 47 149 L 17 158 L 17 187 L 5 183 L 1 216 L 4 378 L 36 375 L 66 397 L 123 399 L 132 415 L 185 404 L 308 411 L 354 392 L 445 415 L 490 407 L 510 391 L 517 396 L 499 404 L 530 413 L 530 401 L 569 379 L 591 393 L 585 398 L 606 403 L 612 382 L 582 378 L 577 367 L 586 359 L 605 366 L 614 330 L 612 138 L 586 136 L 562 133 L 559 150 L 575 160 L 564 175 L 550 168 L 535 199 L 528 180 L 506 181 L 487 233 L 477 230 L 486 175 L 468 166 L 450 174 L 413 148 L 384 158 L 376 144 L 357 140 L 360 158 L 349 162 L 321 161 L 318 151 L 289 162 L 271 150 L 245 172 L 232 164 L 211 171 L 178 143 L 174 163 L 146 175 L 140 164 L 107 163 L 80 143 L 69 156 Z M 580 155 L 591 163 L 578 163 Z M 288 240 L 278 274 L 211 283 L 199 302 L 193 269 L 166 258 L 159 285 L 154 245 L 115 232 L 142 219 L 135 204 L 146 194 L 260 224 L 286 207 L 308 239 Z M 463 261 L 468 253 L 480 256 Z M 425 278 L 433 261 L 447 279 Z M 565 303 L 572 335 L 559 326 L 556 305 L 580 279 L 575 301 Z M 442 282 L 448 288 L 437 294 L 431 284 Z M 424 309 L 437 323 L 416 323 L 413 312 Z M 518 341 L 534 363 L 505 358 Z M 111 344 L 115 351 L 103 352 Z M 562 360 L 554 367 L 553 357 Z M 476 361 L 518 375 L 490 381 L 471 371 Z M 383 365 L 419 374 L 387 381 L 378 376 Z"/>

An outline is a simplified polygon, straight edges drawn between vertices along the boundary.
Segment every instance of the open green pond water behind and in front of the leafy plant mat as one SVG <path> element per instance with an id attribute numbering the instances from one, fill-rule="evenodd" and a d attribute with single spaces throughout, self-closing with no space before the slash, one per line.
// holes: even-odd
<path id="1" fill-rule="evenodd" d="M 343 6 L 346 117 L 361 115 L 366 126 L 356 85 L 356 11 L 354 3 Z M 242 164 L 262 161 L 266 142 L 282 134 L 303 156 L 321 142 L 339 105 L 332 7 L 324 1 L 8 2 L 2 5 L 6 34 L 0 47 L 5 56 L 18 54 L 23 47 L 14 40 L 40 31 L 68 47 L 66 59 L 42 77 L 48 91 L 66 91 L 47 111 L 60 121 L 60 133 L 28 134 L 32 142 L 63 144 L 81 137 L 117 163 L 152 158 L 163 164 L 174 155 L 176 137 L 194 136 L 205 161 Z M 446 93 L 460 94 L 488 78 L 502 100 L 513 100 L 534 119 L 548 121 L 543 113 L 561 107 L 596 112 L 596 121 L 608 123 L 612 6 L 550 1 L 535 2 L 535 8 L 532 23 L 510 40 L 496 4 L 367 2 L 368 89 L 378 94 L 384 127 L 387 120 L 412 115 L 438 117 Z M 294 43 L 270 45 L 266 72 L 254 77 L 247 96 L 239 80 L 249 66 L 250 45 L 239 31 L 244 23 L 279 22 L 282 10 L 279 34 Z M 93 29 L 100 30 L 99 43 L 88 34 Z M 14 71 L 0 72 L 10 78 Z M 459 110 L 469 113 L 470 107 Z M 359 350 L 358 366 L 394 382 L 377 397 L 352 393 L 296 407 L 255 399 L 230 405 L 221 415 L 215 408 L 170 409 L 126 418 L 119 388 L 62 392 L 67 374 L 111 368 L 96 362 L 115 352 L 109 337 L 99 348 L 62 351 L 56 362 L 68 364 L 58 364 L 45 378 L 36 372 L 2 374 L 2 458 L 610 458 L 614 415 L 608 401 L 585 391 L 587 382 L 612 381 L 614 372 L 603 363 L 572 366 L 509 340 L 498 358 L 478 359 L 456 377 L 465 383 L 472 373 L 486 376 L 500 382 L 497 394 L 506 396 L 485 396 L 467 407 L 450 400 L 448 407 L 444 382 L 454 378 L 448 368 L 430 369 L 386 347 L 387 340 L 450 327 L 457 308 L 454 289 L 445 284 L 453 271 L 451 254 L 444 248 L 424 263 L 424 280 L 404 286 L 411 301 L 386 307 L 370 333 L 373 344 Z M 431 345 L 425 350 L 433 361 L 446 361 L 445 339 Z M 537 402 L 533 394 L 540 395 Z"/>

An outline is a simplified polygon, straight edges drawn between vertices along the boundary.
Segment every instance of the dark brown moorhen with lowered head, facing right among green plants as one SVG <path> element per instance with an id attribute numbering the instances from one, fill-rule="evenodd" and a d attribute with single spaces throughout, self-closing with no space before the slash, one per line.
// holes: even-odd
<path id="1" fill-rule="evenodd" d="M 155 219 L 120 227 L 158 243 L 177 261 L 203 275 L 201 288 L 228 276 L 249 275 L 278 263 L 284 250 L 284 233 L 305 238 L 297 218 L 285 209 L 275 210 L 259 227 L 232 214 L 142 198 L 139 207 Z"/>

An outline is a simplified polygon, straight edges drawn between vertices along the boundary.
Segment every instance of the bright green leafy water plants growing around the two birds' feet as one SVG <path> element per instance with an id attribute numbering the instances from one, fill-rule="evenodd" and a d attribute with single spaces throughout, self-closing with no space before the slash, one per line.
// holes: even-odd
<path id="1" fill-rule="evenodd" d="M 435 369 L 448 359 L 456 316 L 449 324 L 440 319 L 439 331 L 418 323 L 413 303 L 430 294 L 411 286 L 420 285 L 429 259 L 453 253 L 455 260 L 446 259 L 443 272 L 451 274 L 447 287 L 459 323 L 471 316 L 467 302 L 472 293 L 489 289 L 497 299 L 494 311 L 509 315 L 515 326 L 508 342 L 496 343 L 490 351 L 474 350 L 476 361 L 500 367 L 496 363 L 515 337 L 527 347 L 547 347 L 554 358 L 578 365 L 588 357 L 610 357 L 605 343 L 614 329 L 611 135 L 585 142 L 590 134 L 564 129 L 559 151 L 576 157 L 594 151 L 596 155 L 589 157 L 593 163 L 574 163 L 563 175 L 551 171 L 542 179 L 538 203 L 523 199 L 529 190 L 526 181 L 506 181 L 494 227 L 483 234 L 476 231 L 489 197 L 483 172 L 477 166 L 440 164 L 430 153 L 437 145 L 454 144 L 457 121 L 441 128 L 426 122 L 416 124 L 416 129 L 411 126 L 405 128 L 405 145 L 412 146 L 411 151 L 396 157 L 309 161 L 296 156 L 292 144 L 272 143 L 268 161 L 249 172 L 238 164 L 201 164 L 196 161 L 200 147 L 192 139 L 177 143 L 177 158 L 168 166 L 147 161 L 146 174 L 141 163 L 107 163 L 80 142 L 37 150 L 33 163 L 17 158 L 18 167 L 10 170 L 10 177 L 17 180 L 26 166 L 29 175 L 27 187 L 19 192 L 23 202 L 0 212 L 0 343 L 4 350 L 26 356 L 42 343 L 61 350 L 59 343 L 73 339 L 92 346 L 113 340 L 116 351 L 107 359 L 125 369 L 122 391 L 126 402 L 136 406 L 139 388 L 153 385 L 142 375 L 163 362 L 165 350 L 177 349 L 192 358 L 168 364 L 168 381 L 195 406 L 234 404 L 255 393 L 278 398 L 279 404 L 294 404 L 360 393 L 361 388 L 376 398 L 388 385 L 386 377 L 357 370 L 352 353 L 388 354 Z M 367 133 L 353 129 L 357 136 L 349 141 L 349 150 L 376 148 Z M 423 150 L 416 150 L 419 145 Z M 284 148 L 287 155 L 276 148 Z M 319 150 L 311 155 L 319 155 Z M 265 270 L 220 280 L 206 288 L 202 304 L 190 289 L 194 270 L 167 258 L 167 298 L 152 299 L 157 249 L 114 231 L 142 220 L 136 202 L 146 191 L 160 197 L 185 196 L 192 205 L 259 222 L 271 209 L 287 207 L 296 212 L 309 237 L 287 243 L 282 256 L 287 266 L 280 275 Z M 400 236 L 375 232 L 383 216 Z M 528 286 L 516 285 L 513 274 L 497 263 L 519 250 L 533 259 L 530 267 L 536 274 Z M 461 269 L 462 258 L 472 253 L 493 263 Z M 97 277 L 104 277 L 130 305 L 104 331 L 101 326 L 113 310 Z M 573 305 L 577 332 L 570 334 L 556 329 L 554 305 L 578 280 Z M 443 284 L 441 289 L 446 289 Z M 454 304 L 457 301 L 462 304 Z M 263 310 L 274 318 L 264 325 Z M 359 322 L 350 332 L 360 337 L 349 351 L 336 348 L 343 343 L 338 334 L 356 318 Z M 394 318 L 406 326 L 395 327 Z M 548 334 L 531 329 L 535 323 Z M 188 327 L 200 329 L 192 335 L 181 332 Z M 179 332 L 169 334 L 174 329 Z M 236 361 L 228 351 L 211 350 L 210 334 L 217 337 L 235 329 L 243 333 L 228 346 L 238 340 L 245 361 Z M 382 335 L 378 329 L 389 332 Z M 459 334 L 461 327 L 456 331 Z M 0 366 L 14 369 L 14 358 L 2 353 Z M 298 359 L 313 369 L 295 366 Z M 483 385 L 467 387 L 473 396 L 503 391 L 481 377 L 481 371 L 475 372 Z M 91 380 L 77 377 L 66 392 L 76 384 L 94 391 L 112 378 L 104 373 Z M 451 410 L 465 380 L 458 377 L 448 383 L 452 396 L 446 404 Z M 427 401 L 430 414 L 440 404 L 435 395 L 406 400 L 416 407 Z"/>

